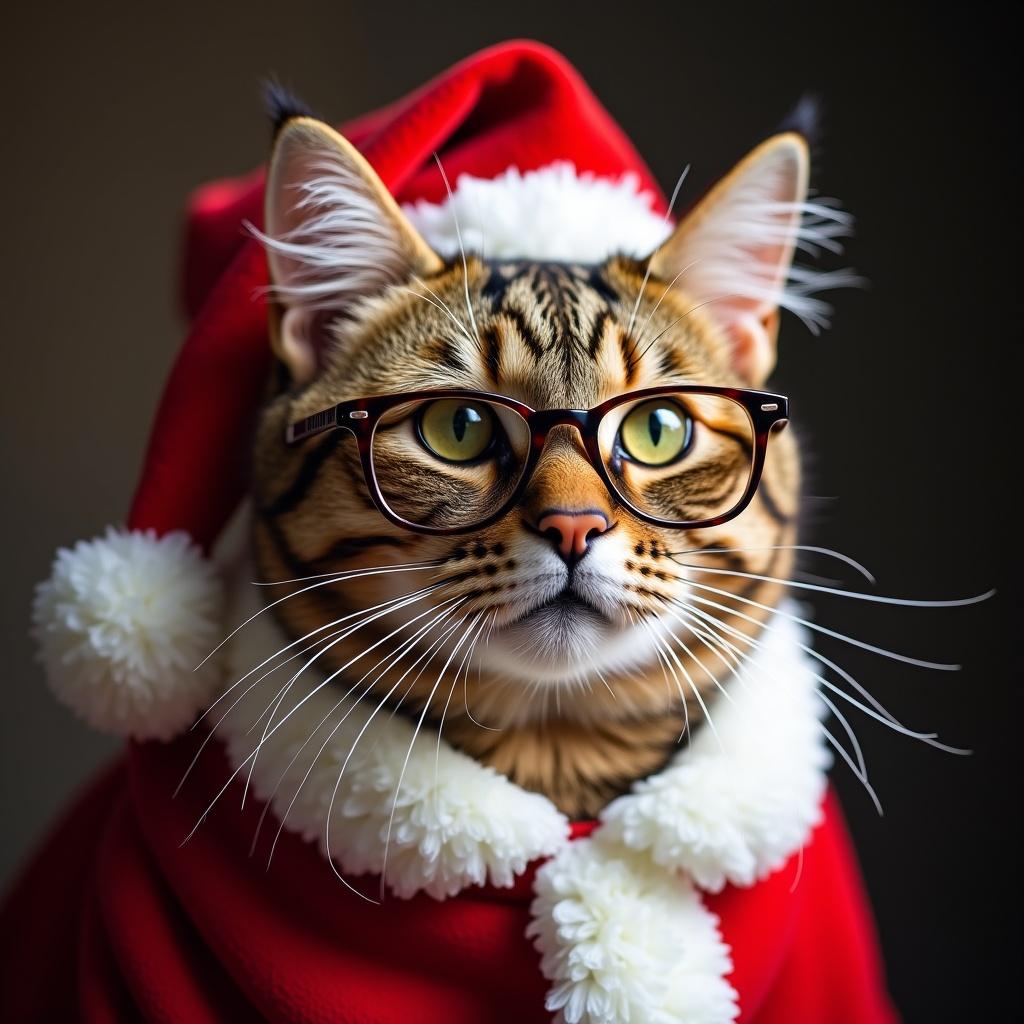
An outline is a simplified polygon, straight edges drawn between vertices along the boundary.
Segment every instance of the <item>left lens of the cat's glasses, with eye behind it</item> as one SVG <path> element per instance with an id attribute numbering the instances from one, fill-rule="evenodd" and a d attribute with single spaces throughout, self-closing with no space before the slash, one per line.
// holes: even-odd
<path id="1" fill-rule="evenodd" d="M 434 398 L 392 409 L 371 444 L 377 485 L 408 522 L 465 529 L 499 511 L 522 478 L 529 428 L 478 398 Z"/>

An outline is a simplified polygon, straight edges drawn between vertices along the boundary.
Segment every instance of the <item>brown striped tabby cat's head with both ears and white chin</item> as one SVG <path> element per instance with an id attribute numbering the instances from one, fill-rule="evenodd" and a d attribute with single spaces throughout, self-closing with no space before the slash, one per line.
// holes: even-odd
<path id="1" fill-rule="evenodd" d="M 486 709 L 478 717 L 492 723 L 553 714 L 552 693 L 559 714 L 581 721 L 609 713 L 605 690 L 614 692 L 615 714 L 664 708 L 667 699 L 678 706 L 666 666 L 677 679 L 676 665 L 698 687 L 708 684 L 713 673 L 687 664 L 686 643 L 699 634 L 701 611 L 727 617 L 707 602 L 725 600 L 715 591 L 741 593 L 758 602 L 743 608 L 758 618 L 758 605 L 770 605 L 777 588 L 701 569 L 786 575 L 790 555 L 779 546 L 793 543 L 799 487 L 792 431 L 772 433 L 750 505 L 714 527 L 641 521 L 609 493 L 580 433 L 562 425 L 498 521 L 460 536 L 424 536 L 375 506 L 350 433 L 289 445 L 286 429 L 343 400 L 422 389 L 589 410 L 660 385 L 762 387 L 775 361 L 807 176 L 803 139 L 781 134 L 746 157 L 647 257 L 577 265 L 470 251 L 464 261 L 431 249 L 345 139 L 310 118 L 288 122 L 274 145 L 266 207 L 272 339 L 286 383 L 262 414 L 254 492 L 263 578 L 317 578 L 276 606 L 289 632 L 303 636 L 327 623 L 337 632 L 366 620 L 325 652 L 325 664 L 351 662 L 346 674 L 366 673 L 367 685 L 383 694 L 423 655 L 393 691 L 395 698 L 408 693 L 416 708 L 436 689 L 454 644 L 465 637 L 465 651 L 476 641 L 471 663 L 462 666 L 460 655 L 441 690 L 449 695 L 462 667 L 463 685 Z M 668 420 L 663 412 L 647 408 L 631 422 L 624 407 L 608 421 L 607 444 L 637 493 L 656 490 L 650 501 L 660 510 L 668 503 L 685 512 L 710 492 L 739 486 L 749 458 L 730 436 L 735 424 L 678 407 Z M 501 471 L 488 465 L 488 453 L 508 424 L 484 415 L 467 434 L 467 415 L 475 416 L 451 402 L 429 419 L 421 409 L 389 424 L 401 468 L 390 466 L 382 487 L 411 516 L 433 515 L 443 525 L 445 507 L 472 505 Z M 676 431 L 667 443 L 679 451 L 645 464 L 634 456 L 666 443 L 650 436 L 658 422 Z M 378 567 L 392 570 L 369 571 Z M 332 582 L 329 573 L 346 578 Z M 384 613 L 382 602 L 416 594 Z M 359 617 L 375 606 L 380 614 Z M 739 618 L 734 625 L 751 628 Z M 398 654 L 387 663 L 392 651 Z"/>

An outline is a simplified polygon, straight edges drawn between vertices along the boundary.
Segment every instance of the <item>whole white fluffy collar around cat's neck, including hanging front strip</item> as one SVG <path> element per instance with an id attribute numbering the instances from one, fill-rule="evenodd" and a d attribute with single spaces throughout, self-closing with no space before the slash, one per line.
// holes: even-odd
<path id="1" fill-rule="evenodd" d="M 255 610 L 254 590 L 243 592 L 238 621 Z M 221 709 L 238 702 L 218 732 L 286 828 L 315 841 L 348 877 L 383 876 L 396 896 L 508 887 L 548 858 L 527 934 L 559 1020 L 712 1024 L 738 1010 L 725 977 L 728 947 L 699 890 L 765 878 L 806 843 L 820 815 L 829 758 L 804 639 L 776 616 L 759 667 L 726 683 L 731 699 L 716 702 L 717 738 L 700 729 L 666 770 L 609 804 L 593 835 L 574 842 L 545 797 L 436 733 L 422 731 L 414 742 L 404 718 L 355 699 L 365 683 L 346 696 L 348 680 L 325 686 L 311 668 L 268 725 L 268 701 L 274 706 L 305 657 L 247 687 L 295 647 L 224 698 Z M 232 644 L 229 678 L 282 645 L 270 616 L 260 615 Z"/>

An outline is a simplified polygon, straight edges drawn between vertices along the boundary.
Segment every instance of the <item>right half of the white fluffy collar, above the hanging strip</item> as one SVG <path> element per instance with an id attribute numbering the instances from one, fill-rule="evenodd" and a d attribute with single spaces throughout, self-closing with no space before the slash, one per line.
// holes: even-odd
<path id="1" fill-rule="evenodd" d="M 713 710 L 716 735 L 697 731 L 673 765 L 638 782 L 601 815 L 601 835 L 711 892 L 749 886 L 780 867 L 820 820 L 830 758 L 824 706 L 808 638 L 781 615 L 765 631 L 759 662 L 727 684 Z M 721 740 L 721 746 L 719 745 Z"/>

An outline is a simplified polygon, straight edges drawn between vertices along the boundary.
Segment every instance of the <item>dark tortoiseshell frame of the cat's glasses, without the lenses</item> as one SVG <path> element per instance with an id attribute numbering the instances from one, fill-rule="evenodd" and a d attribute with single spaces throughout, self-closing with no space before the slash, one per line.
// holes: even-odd
<path id="1" fill-rule="evenodd" d="M 626 404 L 642 402 L 651 398 L 671 395 L 707 395 L 731 399 L 745 410 L 751 420 L 753 445 L 751 452 L 751 475 L 746 488 L 738 501 L 726 512 L 707 519 L 677 521 L 663 519 L 651 515 L 630 501 L 629 497 L 615 485 L 604 456 L 598 442 L 598 430 L 604 418 L 613 410 Z M 507 409 L 522 419 L 529 429 L 529 447 L 525 454 L 525 462 L 516 485 L 510 490 L 500 507 L 487 516 L 459 526 L 432 526 L 426 523 L 413 522 L 398 515 L 388 505 L 381 493 L 374 468 L 373 439 L 381 420 L 392 410 L 411 402 L 431 401 L 436 399 L 466 399 L 468 401 L 486 402 L 489 406 Z M 417 534 L 434 536 L 456 536 L 469 534 L 493 525 L 504 516 L 520 499 L 544 450 L 548 433 L 557 426 L 574 427 L 583 441 L 587 457 L 600 476 L 608 493 L 616 501 L 643 522 L 653 526 L 670 529 L 697 529 L 707 526 L 717 526 L 719 523 L 734 519 L 751 503 L 761 480 L 764 470 L 765 456 L 768 451 L 768 435 L 776 427 L 782 429 L 790 419 L 790 399 L 785 395 L 773 394 L 769 391 L 754 391 L 745 388 L 713 387 L 706 385 L 672 385 L 665 387 L 643 388 L 616 395 L 593 409 L 543 409 L 536 410 L 502 394 L 488 391 L 473 391 L 468 389 L 437 389 L 425 391 L 403 391 L 397 394 L 378 395 L 369 398 L 353 398 L 338 402 L 330 409 L 325 409 L 312 416 L 307 416 L 291 424 L 286 433 L 288 444 L 298 444 L 327 431 L 344 429 L 354 435 L 359 451 L 359 461 L 366 477 L 370 497 L 381 515 L 403 529 Z"/>

